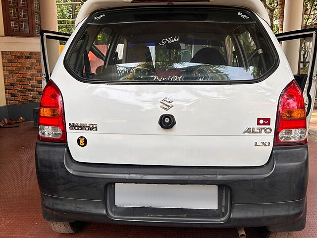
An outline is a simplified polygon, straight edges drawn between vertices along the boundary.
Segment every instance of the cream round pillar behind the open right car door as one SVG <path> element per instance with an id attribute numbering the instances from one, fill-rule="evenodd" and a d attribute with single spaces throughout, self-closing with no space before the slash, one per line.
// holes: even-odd
<path id="1" fill-rule="evenodd" d="M 285 0 L 283 32 L 302 29 L 304 0 Z M 294 74 L 298 74 L 300 40 L 283 42 L 282 48 Z"/>

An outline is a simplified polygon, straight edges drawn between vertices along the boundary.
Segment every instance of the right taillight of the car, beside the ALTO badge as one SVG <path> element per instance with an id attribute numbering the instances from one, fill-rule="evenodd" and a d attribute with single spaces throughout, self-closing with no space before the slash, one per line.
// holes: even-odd
<path id="1" fill-rule="evenodd" d="M 302 145 L 306 138 L 306 109 L 302 90 L 292 80 L 278 102 L 274 145 Z"/>

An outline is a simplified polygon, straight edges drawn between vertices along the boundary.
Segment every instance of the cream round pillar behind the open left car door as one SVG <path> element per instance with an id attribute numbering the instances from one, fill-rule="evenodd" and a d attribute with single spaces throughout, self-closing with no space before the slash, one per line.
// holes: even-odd
<path id="1" fill-rule="evenodd" d="M 56 0 L 40 0 L 41 28 L 43 30 L 58 31 Z M 47 54 L 50 71 L 52 73 L 59 57 L 59 42 L 47 40 Z"/>

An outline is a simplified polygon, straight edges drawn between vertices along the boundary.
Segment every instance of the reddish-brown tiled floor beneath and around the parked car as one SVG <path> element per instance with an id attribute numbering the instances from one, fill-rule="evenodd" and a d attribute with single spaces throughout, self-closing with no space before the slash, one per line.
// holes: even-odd
<path id="1" fill-rule="evenodd" d="M 236 229 L 160 228 L 96 223 L 87 224 L 83 231 L 74 235 L 54 233 L 41 214 L 34 163 L 36 135 L 37 128 L 32 126 L 32 122 L 24 122 L 17 128 L 0 129 L 0 238 L 238 237 Z M 307 225 L 304 231 L 294 233 L 293 238 L 317 238 L 317 133 L 316 136 L 313 133 L 309 139 Z M 258 238 L 254 229 L 246 229 L 246 232 L 248 238 Z"/>

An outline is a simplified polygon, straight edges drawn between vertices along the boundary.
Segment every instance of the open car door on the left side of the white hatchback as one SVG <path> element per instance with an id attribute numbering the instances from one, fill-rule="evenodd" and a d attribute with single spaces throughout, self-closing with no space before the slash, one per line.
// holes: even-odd
<path id="1" fill-rule="evenodd" d="M 41 31 L 41 55 L 42 55 L 42 86 L 50 80 L 55 63 L 68 41 L 70 34 L 55 32 L 55 31 Z"/>

